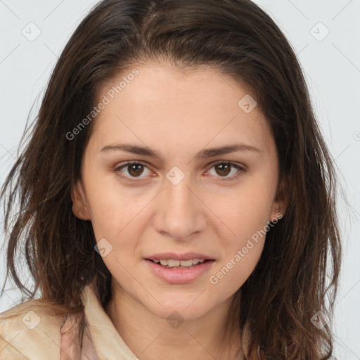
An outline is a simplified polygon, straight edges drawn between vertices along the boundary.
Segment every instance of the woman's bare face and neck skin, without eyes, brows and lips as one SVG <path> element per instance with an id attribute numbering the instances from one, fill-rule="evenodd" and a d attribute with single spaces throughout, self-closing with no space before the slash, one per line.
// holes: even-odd
<path id="1" fill-rule="evenodd" d="M 82 181 L 72 191 L 74 214 L 91 221 L 97 241 L 105 238 L 113 246 L 103 257 L 113 276 L 113 297 L 105 311 L 141 360 L 159 354 L 174 360 L 234 359 L 240 331 L 222 342 L 224 322 L 236 291 L 259 261 L 264 237 L 216 284 L 210 276 L 267 221 L 285 212 L 285 200 L 276 196 L 274 138 L 257 107 L 245 113 L 238 106 L 249 93 L 231 77 L 205 66 L 178 70 L 150 60 L 134 68 L 139 75 L 94 120 Z M 100 98 L 123 76 L 108 82 Z M 259 152 L 195 159 L 204 148 L 236 142 Z M 148 146 L 162 160 L 101 151 L 119 143 Z M 137 172 L 118 169 L 131 160 L 146 166 Z M 234 179 L 238 169 L 212 165 L 219 160 L 245 170 Z M 166 177 L 174 166 L 185 175 L 177 185 Z M 215 261 L 194 281 L 172 284 L 149 271 L 144 259 L 159 252 L 200 252 Z M 175 328 L 167 319 L 184 322 Z"/>

